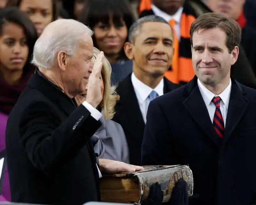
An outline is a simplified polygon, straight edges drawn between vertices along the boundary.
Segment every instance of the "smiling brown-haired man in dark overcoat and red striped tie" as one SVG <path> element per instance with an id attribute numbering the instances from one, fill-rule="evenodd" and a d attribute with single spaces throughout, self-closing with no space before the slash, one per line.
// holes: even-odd
<path id="1" fill-rule="evenodd" d="M 150 102 L 142 164 L 188 164 L 199 194 L 196 205 L 251 205 L 256 91 L 230 77 L 241 28 L 221 14 L 205 13 L 190 35 L 196 76 Z"/>

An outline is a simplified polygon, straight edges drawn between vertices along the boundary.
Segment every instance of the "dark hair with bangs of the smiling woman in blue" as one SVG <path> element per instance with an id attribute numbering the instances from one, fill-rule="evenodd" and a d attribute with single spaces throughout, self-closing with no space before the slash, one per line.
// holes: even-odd
<path id="1" fill-rule="evenodd" d="M 120 25 L 120 21 L 123 19 L 127 30 L 135 22 L 132 7 L 128 0 L 88 0 L 81 12 L 79 21 L 94 30 L 95 25 L 99 22 L 108 24 L 110 15 L 113 15 L 113 21 L 117 25 Z M 98 48 L 94 35 L 92 36 L 92 40 L 93 45 Z M 122 49 L 119 59 L 127 59 L 124 49 Z"/>

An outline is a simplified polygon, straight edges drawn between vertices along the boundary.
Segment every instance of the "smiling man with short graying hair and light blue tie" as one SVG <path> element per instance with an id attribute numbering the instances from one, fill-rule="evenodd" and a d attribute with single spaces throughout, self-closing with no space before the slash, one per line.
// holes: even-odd
<path id="1" fill-rule="evenodd" d="M 124 129 L 131 164 L 139 165 L 149 102 L 179 87 L 164 77 L 173 57 L 172 28 L 162 17 L 143 17 L 130 28 L 124 50 L 133 72 L 118 85 L 113 120 Z"/>

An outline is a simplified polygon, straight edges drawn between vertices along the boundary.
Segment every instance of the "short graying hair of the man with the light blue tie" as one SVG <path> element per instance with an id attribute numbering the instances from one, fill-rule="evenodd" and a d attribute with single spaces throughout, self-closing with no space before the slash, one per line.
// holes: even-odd
<path id="1" fill-rule="evenodd" d="M 164 18 L 162 18 L 160 16 L 150 15 L 150 16 L 142 17 L 142 18 L 138 19 L 137 21 L 135 21 L 129 29 L 128 40 L 130 43 L 133 44 L 135 42 L 135 38 L 140 34 L 142 24 L 147 23 L 147 22 L 160 22 L 160 23 L 166 23 L 166 24 L 170 25 L 168 23 L 168 21 L 164 20 Z"/>

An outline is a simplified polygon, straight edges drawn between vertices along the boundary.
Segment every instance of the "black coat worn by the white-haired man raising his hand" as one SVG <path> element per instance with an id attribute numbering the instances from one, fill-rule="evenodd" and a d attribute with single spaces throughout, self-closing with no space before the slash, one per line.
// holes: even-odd
<path id="1" fill-rule="evenodd" d="M 6 151 L 13 202 L 99 201 L 90 112 L 36 72 L 9 115 Z"/>

